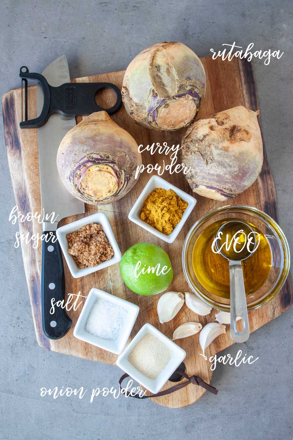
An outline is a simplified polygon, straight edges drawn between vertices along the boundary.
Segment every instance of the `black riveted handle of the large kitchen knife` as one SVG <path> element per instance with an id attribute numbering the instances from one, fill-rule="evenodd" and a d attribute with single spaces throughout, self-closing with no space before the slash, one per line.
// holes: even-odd
<path id="1" fill-rule="evenodd" d="M 72 320 L 60 305 L 52 307 L 57 301 L 65 301 L 65 278 L 61 248 L 56 237 L 56 231 L 43 232 L 42 249 L 42 324 L 43 332 L 50 339 L 59 339 L 68 332 Z"/>

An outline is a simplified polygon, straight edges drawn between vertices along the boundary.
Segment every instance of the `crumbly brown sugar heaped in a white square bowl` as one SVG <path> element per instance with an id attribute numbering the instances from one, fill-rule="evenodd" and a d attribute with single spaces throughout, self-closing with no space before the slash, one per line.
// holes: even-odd
<path id="1" fill-rule="evenodd" d="M 110 260 L 114 251 L 99 223 L 89 223 L 66 235 L 68 253 L 79 269 L 93 268 Z"/>

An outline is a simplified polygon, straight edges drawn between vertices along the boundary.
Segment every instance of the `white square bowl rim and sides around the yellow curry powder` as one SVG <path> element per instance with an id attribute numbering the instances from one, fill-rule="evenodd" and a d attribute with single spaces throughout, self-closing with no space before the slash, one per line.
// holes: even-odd
<path id="1" fill-rule="evenodd" d="M 185 202 L 188 203 L 187 208 L 185 209 L 183 216 L 177 226 L 174 227 L 174 230 L 170 235 L 163 234 L 163 232 L 158 231 L 155 227 L 150 226 L 145 223 L 145 221 L 141 220 L 141 209 L 144 205 L 145 199 L 148 197 L 152 191 L 156 188 L 163 188 L 164 190 L 173 190 L 179 197 L 182 198 Z M 145 188 L 141 192 L 141 195 L 137 198 L 137 201 L 134 203 L 133 207 L 128 214 L 129 220 L 143 227 L 146 231 L 151 232 L 151 234 L 156 235 L 167 243 L 173 243 L 179 232 L 181 231 L 184 223 L 188 219 L 189 214 L 192 212 L 192 209 L 195 207 L 196 199 L 181 189 L 171 185 L 171 183 L 162 179 L 159 176 L 152 176 L 148 183 L 145 185 Z"/>

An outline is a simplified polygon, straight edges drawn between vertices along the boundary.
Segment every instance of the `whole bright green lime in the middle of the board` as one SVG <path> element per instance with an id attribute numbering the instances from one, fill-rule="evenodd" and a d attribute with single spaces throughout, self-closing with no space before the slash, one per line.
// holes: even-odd
<path id="1" fill-rule="evenodd" d="M 168 255 L 152 243 L 131 246 L 120 261 L 120 272 L 127 287 L 139 295 L 161 293 L 173 279 Z"/>

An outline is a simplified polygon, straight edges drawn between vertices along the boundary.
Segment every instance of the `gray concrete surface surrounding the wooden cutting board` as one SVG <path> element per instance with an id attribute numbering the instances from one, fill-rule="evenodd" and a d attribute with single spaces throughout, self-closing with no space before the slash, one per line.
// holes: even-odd
<path id="1" fill-rule="evenodd" d="M 290 0 L 27 1 L 1 0 L 0 92 L 19 86 L 22 65 L 41 72 L 68 56 L 72 77 L 122 70 L 142 49 L 178 40 L 199 56 L 223 43 L 281 49 L 269 66 L 254 61 L 264 141 L 275 180 L 279 224 L 292 234 L 293 6 Z M 213 385 L 187 408 L 172 410 L 144 400 L 99 397 L 41 398 L 40 387 L 85 389 L 116 385 L 118 367 L 49 352 L 37 345 L 17 226 L 8 223 L 14 205 L 3 125 L 1 155 L 1 439 L 268 439 L 290 440 L 292 425 L 292 312 L 254 332 L 242 345 L 259 359 L 253 365 L 217 367 Z M 239 346 L 226 350 L 235 356 Z"/>

